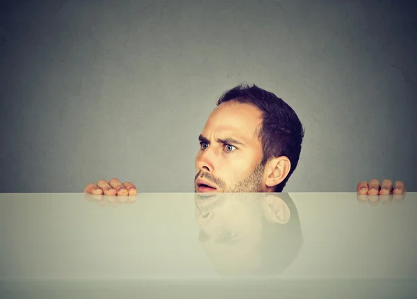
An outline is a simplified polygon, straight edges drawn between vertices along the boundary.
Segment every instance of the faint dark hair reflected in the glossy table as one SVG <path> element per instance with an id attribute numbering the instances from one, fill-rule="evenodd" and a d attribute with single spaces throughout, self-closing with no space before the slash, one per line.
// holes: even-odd
<path id="1" fill-rule="evenodd" d="M 262 253 L 262 266 L 256 271 L 260 275 L 279 274 L 290 266 L 300 252 L 303 237 L 297 207 L 288 194 L 279 194 L 291 212 L 288 223 L 263 225 L 263 236 L 259 245 Z"/>

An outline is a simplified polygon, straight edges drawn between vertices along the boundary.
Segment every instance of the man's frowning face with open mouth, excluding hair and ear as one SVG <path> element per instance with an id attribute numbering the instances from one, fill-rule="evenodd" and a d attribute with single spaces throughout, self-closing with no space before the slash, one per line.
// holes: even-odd
<path id="1" fill-rule="evenodd" d="M 231 101 L 213 110 L 199 137 L 195 192 L 263 191 L 261 123 L 261 112 L 249 104 Z"/>

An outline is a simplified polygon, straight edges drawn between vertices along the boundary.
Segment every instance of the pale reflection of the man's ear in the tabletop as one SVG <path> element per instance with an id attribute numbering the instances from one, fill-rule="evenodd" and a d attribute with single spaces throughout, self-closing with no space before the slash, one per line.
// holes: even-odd
<path id="1" fill-rule="evenodd" d="M 263 212 L 269 223 L 286 224 L 291 218 L 290 208 L 277 194 L 265 196 Z"/>

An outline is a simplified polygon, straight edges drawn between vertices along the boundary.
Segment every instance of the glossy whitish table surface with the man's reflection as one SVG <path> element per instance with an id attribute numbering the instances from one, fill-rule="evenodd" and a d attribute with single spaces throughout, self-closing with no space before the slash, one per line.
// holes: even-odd
<path id="1" fill-rule="evenodd" d="M 417 193 L 0 194 L 0 298 L 416 298 Z"/>

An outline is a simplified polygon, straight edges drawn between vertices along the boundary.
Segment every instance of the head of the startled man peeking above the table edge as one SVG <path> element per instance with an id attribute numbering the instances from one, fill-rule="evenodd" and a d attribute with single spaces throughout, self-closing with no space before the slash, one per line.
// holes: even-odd
<path id="1" fill-rule="evenodd" d="M 195 191 L 281 192 L 303 137 L 288 104 L 256 85 L 238 85 L 220 97 L 199 136 Z"/>

